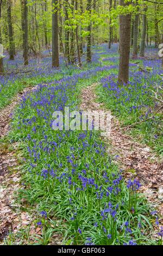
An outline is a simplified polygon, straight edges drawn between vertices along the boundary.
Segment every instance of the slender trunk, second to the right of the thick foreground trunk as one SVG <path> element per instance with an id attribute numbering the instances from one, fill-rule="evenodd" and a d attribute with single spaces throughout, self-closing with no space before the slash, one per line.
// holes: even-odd
<path id="1" fill-rule="evenodd" d="M 141 33 L 141 45 L 140 45 L 140 57 L 145 56 L 145 44 L 146 44 L 146 30 L 147 30 L 147 7 L 144 8 L 145 14 L 142 15 L 142 33 Z"/>

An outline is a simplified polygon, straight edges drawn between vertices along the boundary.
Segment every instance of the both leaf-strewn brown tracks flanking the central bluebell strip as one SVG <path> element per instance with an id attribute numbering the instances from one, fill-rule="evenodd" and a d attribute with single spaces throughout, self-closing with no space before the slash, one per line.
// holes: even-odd
<path id="1" fill-rule="evenodd" d="M 102 103 L 97 102 L 95 88 L 97 83 L 82 90 L 80 105 L 81 110 L 101 111 L 106 110 Z M 10 128 L 12 113 L 22 97 L 32 90 L 26 88 L 18 94 L 10 105 L 0 111 L 0 138 L 5 137 Z M 101 133 L 102 138 L 108 145 L 108 154 L 115 156 L 115 162 L 123 168 L 125 178 L 137 177 L 141 184 L 141 191 L 146 194 L 161 216 L 163 216 L 163 167 L 161 161 L 148 147 L 143 147 L 120 129 L 118 121 L 112 117 L 111 133 Z M 0 243 L 8 234 L 9 230 L 16 232 L 22 227 L 32 224 L 32 216 L 21 211 L 20 205 L 15 205 L 14 193 L 23 187 L 21 184 L 20 168 L 23 156 L 18 153 L 18 143 L 1 143 L 0 147 Z M 160 220 L 163 223 L 163 219 Z M 30 234 L 40 234 L 40 228 L 35 230 L 31 225 Z M 60 237 L 56 237 L 60 244 Z"/>

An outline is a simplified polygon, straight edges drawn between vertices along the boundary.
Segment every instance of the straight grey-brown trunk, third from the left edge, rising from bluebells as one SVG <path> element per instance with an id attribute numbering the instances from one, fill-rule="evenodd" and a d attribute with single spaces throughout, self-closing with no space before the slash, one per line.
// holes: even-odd
<path id="1" fill-rule="evenodd" d="M 28 7 L 27 0 L 21 0 L 22 33 L 23 33 L 23 56 L 24 65 L 28 65 Z"/>

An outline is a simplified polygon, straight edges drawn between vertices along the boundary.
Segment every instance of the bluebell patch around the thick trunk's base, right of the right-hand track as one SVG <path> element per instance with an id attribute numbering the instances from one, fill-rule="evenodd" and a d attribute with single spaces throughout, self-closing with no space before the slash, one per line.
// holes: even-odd
<path id="1" fill-rule="evenodd" d="M 149 90 L 153 89 L 155 84 L 163 88 L 161 59 L 150 60 L 152 56 L 157 57 L 156 51 L 157 49 L 149 47 L 146 53 L 149 60 L 140 58 L 135 60 L 136 64 L 130 63 L 128 84 L 120 86 L 117 82 L 117 74 L 111 74 L 102 78 L 97 89 L 99 99 L 121 119 L 124 126 L 151 118 L 159 108 L 159 101 L 149 96 Z M 103 60 L 116 63 L 117 58 Z M 131 133 L 134 137 L 138 136 L 143 143 L 148 144 L 158 154 L 162 154 L 162 127 L 162 113 L 159 112 L 152 119 L 137 125 Z"/>

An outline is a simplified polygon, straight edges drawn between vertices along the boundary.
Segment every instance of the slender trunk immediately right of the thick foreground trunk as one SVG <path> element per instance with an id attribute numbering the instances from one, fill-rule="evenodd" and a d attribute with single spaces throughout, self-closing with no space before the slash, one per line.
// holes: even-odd
<path id="1" fill-rule="evenodd" d="M 137 5 L 137 2 L 136 2 L 136 5 Z M 135 14 L 134 32 L 133 32 L 133 58 L 137 57 L 138 35 L 139 35 L 139 14 Z"/>

